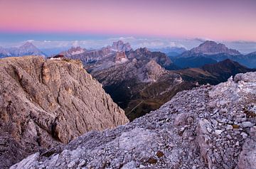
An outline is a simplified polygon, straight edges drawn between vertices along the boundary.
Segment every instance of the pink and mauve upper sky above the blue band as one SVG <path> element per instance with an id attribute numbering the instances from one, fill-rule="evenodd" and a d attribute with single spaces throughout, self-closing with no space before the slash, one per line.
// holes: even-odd
<path id="1" fill-rule="evenodd" d="M 0 31 L 256 40 L 253 0 L 0 0 Z"/>

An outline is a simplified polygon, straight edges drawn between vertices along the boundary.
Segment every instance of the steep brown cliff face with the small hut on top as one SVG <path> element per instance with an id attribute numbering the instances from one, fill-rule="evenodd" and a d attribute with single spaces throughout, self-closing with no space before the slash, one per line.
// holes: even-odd
<path id="1" fill-rule="evenodd" d="M 0 60 L 0 168 L 68 143 L 87 131 L 128 122 L 78 60 Z"/>

